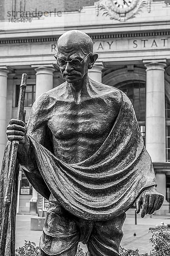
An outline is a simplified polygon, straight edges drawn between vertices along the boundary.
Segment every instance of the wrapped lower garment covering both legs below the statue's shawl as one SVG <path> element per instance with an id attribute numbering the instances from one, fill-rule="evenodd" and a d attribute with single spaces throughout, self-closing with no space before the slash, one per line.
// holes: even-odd
<path id="1" fill-rule="evenodd" d="M 85 220 L 65 210 L 51 195 L 40 239 L 42 256 L 74 256 L 79 241 L 87 244 L 89 256 L 119 256 L 125 217 L 123 213 L 108 221 Z"/>

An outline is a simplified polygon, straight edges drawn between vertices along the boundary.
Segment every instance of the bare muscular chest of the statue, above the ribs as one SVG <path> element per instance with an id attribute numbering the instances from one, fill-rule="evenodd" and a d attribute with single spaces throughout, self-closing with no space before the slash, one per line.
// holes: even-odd
<path id="1" fill-rule="evenodd" d="M 65 102 L 53 110 L 48 127 L 57 140 L 103 137 L 110 130 L 117 110 L 105 102 Z"/>

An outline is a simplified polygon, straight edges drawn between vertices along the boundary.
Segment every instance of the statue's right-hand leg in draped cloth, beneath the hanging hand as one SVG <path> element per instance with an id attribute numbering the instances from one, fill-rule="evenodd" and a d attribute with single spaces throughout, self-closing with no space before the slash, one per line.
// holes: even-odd
<path id="1" fill-rule="evenodd" d="M 89 256 L 119 256 L 125 218 L 126 213 L 109 221 L 94 221 L 94 227 L 87 242 Z"/>

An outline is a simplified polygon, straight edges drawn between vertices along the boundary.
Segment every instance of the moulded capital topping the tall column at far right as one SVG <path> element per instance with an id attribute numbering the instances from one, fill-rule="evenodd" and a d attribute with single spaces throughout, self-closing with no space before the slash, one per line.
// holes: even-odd
<path id="1" fill-rule="evenodd" d="M 166 59 L 154 59 L 154 60 L 143 60 L 144 66 L 148 70 L 164 70 L 164 68 L 167 66 L 167 60 Z"/>

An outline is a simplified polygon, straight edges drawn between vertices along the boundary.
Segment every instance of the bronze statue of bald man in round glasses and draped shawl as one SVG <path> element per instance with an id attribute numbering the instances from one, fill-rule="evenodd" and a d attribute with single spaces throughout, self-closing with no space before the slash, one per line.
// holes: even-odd
<path id="1" fill-rule="evenodd" d="M 158 210 L 150 156 L 128 97 L 88 77 L 98 58 L 84 32 L 57 41 L 66 80 L 33 104 L 28 126 L 11 119 L 8 140 L 32 186 L 49 200 L 43 256 L 74 256 L 79 241 L 89 256 L 118 256 L 126 211 L 137 200 L 141 217 Z"/>

